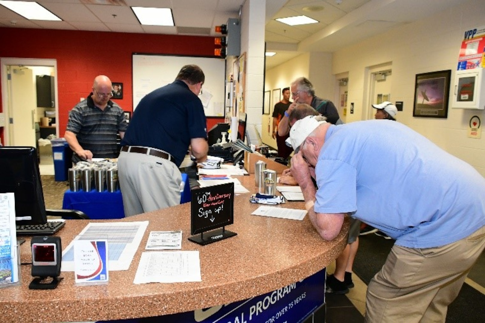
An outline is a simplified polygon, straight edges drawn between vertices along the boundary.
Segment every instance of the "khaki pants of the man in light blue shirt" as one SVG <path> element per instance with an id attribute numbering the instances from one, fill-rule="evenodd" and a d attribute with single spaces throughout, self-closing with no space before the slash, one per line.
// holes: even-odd
<path id="1" fill-rule="evenodd" d="M 471 267 L 485 248 L 485 226 L 437 248 L 394 245 L 369 283 L 366 322 L 445 322 Z"/>

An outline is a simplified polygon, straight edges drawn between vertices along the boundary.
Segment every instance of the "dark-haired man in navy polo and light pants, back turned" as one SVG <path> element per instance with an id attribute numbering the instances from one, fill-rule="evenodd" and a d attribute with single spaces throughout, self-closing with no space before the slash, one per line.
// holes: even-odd
<path id="1" fill-rule="evenodd" d="M 206 116 L 198 97 L 204 80 L 199 66 L 185 65 L 173 83 L 147 94 L 136 107 L 118 157 L 125 216 L 178 205 L 178 166 L 187 149 L 197 162 L 207 159 Z"/>

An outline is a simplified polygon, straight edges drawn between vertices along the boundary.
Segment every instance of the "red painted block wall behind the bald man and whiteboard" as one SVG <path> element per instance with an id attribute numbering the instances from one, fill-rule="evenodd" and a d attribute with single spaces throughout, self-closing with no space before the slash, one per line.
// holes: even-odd
<path id="1" fill-rule="evenodd" d="M 56 121 L 61 137 L 64 136 L 69 111 L 81 97 L 91 92 L 97 75 L 103 74 L 111 81 L 122 82 L 123 99 L 114 101 L 124 110 L 133 111 L 132 53 L 214 55 L 213 37 L 145 33 L 0 28 L 0 44 L 0 57 L 57 61 L 59 120 Z M 208 129 L 217 122 L 221 119 L 208 118 Z M 3 142 L 2 127 L 0 136 Z"/>

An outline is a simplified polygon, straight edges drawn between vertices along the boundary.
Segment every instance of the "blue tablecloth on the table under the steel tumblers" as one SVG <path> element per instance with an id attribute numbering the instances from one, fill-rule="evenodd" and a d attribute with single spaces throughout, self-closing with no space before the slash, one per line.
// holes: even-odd
<path id="1" fill-rule="evenodd" d="M 190 202 L 189 178 L 185 173 L 182 173 L 182 186 L 180 203 Z M 108 191 L 97 192 L 96 190 L 91 190 L 91 192 L 67 190 L 64 193 L 62 208 L 82 211 L 91 219 L 121 219 L 125 217 L 123 196 L 120 190 L 113 193 Z"/>

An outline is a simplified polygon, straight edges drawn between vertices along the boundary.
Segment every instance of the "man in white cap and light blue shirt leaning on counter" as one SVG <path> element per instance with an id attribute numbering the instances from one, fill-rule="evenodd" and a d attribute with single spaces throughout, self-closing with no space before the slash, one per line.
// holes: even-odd
<path id="1" fill-rule="evenodd" d="M 290 138 L 312 225 L 332 240 L 352 216 L 396 240 L 369 283 L 366 322 L 444 322 L 485 249 L 485 178 L 398 122 L 310 118 Z"/>

